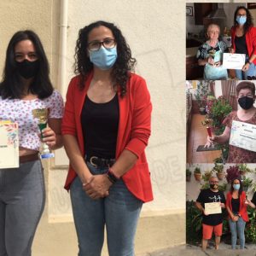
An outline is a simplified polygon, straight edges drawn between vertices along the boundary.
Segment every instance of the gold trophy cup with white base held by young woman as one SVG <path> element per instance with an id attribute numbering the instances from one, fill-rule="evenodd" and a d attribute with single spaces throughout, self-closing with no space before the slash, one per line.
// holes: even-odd
<path id="1" fill-rule="evenodd" d="M 47 119 L 48 119 L 48 109 L 47 108 L 37 108 L 32 110 L 33 117 L 38 119 L 38 128 L 41 133 L 41 138 L 43 138 L 42 131 L 47 127 Z M 54 157 L 49 146 L 46 143 L 42 143 L 40 147 L 40 157 L 41 159 L 48 159 Z"/>

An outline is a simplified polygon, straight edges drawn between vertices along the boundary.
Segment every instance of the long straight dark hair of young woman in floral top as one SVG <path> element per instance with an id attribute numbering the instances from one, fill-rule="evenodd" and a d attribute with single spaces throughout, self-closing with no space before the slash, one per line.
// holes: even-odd
<path id="1" fill-rule="evenodd" d="M 22 82 L 24 80 L 18 73 L 15 61 L 15 45 L 23 40 L 32 41 L 39 60 L 38 73 L 32 79 L 32 84 L 30 84 L 28 90 L 32 94 L 38 95 L 38 98 L 44 99 L 52 94 L 54 88 L 49 80 L 49 63 L 43 45 L 38 35 L 31 30 L 15 32 L 9 41 L 3 69 L 3 80 L 0 84 L 0 96 L 3 99 L 19 99 L 24 96 L 25 84 Z"/>

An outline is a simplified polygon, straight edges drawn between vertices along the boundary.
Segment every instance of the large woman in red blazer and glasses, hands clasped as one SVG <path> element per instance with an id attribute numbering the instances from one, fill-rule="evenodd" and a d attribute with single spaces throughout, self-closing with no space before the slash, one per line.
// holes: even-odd
<path id="1" fill-rule="evenodd" d="M 112 23 L 84 26 L 75 57 L 62 134 L 79 255 L 101 255 L 105 225 L 109 255 L 134 255 L 140 210 L 153 200 L 144 153 L 152 111 L 147 85 L 131 73 L 136 60 Z"/>

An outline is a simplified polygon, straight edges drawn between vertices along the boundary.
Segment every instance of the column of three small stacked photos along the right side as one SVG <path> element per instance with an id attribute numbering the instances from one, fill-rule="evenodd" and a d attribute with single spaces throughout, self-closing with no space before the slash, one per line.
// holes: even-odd
<path id="1" fill-rule="evenodd" d="M 190 248 L 255 249 L 255 20 L 256 3 L 186 3 Z"/>

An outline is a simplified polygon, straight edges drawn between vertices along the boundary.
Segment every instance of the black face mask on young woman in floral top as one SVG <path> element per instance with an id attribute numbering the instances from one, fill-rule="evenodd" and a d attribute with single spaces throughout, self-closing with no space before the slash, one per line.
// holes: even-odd
<path id="1" fill-rule="evenodd" d="M 24 79 L 31 79 L 38 73 L 39 60 L 37 61 L 16 61 L 18 72 Z"/>

